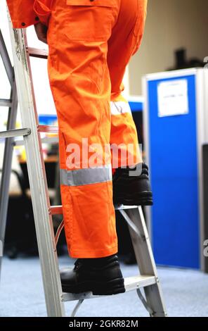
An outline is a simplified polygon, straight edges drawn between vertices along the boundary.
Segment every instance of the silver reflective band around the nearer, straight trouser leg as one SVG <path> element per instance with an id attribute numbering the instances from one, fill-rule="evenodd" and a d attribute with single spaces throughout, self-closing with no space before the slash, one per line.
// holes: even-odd
<path id="1" fill-rule="evenodd" d="M 97 184 L 100 182 L 109 182 L 110 180 L 112 180 L 111 165 L 79 170 L 60 169 L 60 185 L 82 186 Z"/>

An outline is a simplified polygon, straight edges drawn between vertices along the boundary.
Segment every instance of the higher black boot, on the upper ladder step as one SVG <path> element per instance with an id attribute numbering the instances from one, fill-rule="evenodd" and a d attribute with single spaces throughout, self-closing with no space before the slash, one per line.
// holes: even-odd
<path id="1" fill-rule="evenodd" d="M 148 174 L 148 166 L 142 163 L 140 175 L 135 175 L 138 168 L 117 168 L 112 179 L 113 202 L 115 205 L 152 206 L 152 191 Z M 131 174 L 131 175 L 129 175 Z M 133 176 L 132 176 L 133 175 Z"/>

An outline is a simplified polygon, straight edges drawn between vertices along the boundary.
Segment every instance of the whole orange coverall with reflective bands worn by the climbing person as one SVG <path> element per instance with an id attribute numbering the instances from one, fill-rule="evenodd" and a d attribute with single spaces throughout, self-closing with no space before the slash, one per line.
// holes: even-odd
<path id="1" fill-rule="evenodd" d="M 39 20 L 48 25 L 48 76 L 58 114 L 61 196 L 70 256 L 115 254 L 112 165 L 105 146 L 133 144 L 133 160 L 125 163 L 141 162 L 136 155 L 136 127 L 121 92 L 126 65 L 141 44 L 147 0 L 7 3 L 13 27 Z M 90 167 L 95 152 L 99 162 Z M 79 155 L 76 166 L 72 154 L 75 159 Z M 121 154 L 117 161 L 122 165 Z"/>

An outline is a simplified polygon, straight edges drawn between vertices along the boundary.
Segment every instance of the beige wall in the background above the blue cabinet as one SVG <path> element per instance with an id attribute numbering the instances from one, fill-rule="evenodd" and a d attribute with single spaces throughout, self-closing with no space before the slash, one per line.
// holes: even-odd
<path id="1" fill-rule="evenodd" d="M 148 18 L 140 51 L 129 65 L 130 92 L 141 94 L 141 77 L 174 65 L 174 51 L 188 58 L 208 56 L 207 0 L 148 0 Z"/>

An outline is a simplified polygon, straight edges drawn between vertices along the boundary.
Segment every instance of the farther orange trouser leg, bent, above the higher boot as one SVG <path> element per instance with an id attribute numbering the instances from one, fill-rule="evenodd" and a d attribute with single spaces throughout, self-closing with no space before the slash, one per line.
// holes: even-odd
<path id="1" fill-rule="evenodd" d="M 121 146 L 116 162 L 118 166 L 134 165 L 142 161 L 138 149 L 136 126 L 128 102 L 121 95 L 126 65 L 138 50 L 143 37 L 147 0 L 122 0 L 119 18 L 108 41 L 108 68 L 112 84 L 111 92 L 111 144 Z M 128 147 L 129 146 L 129 147 Z M 129 149 L 125 157 L 125 149 Z"/>

